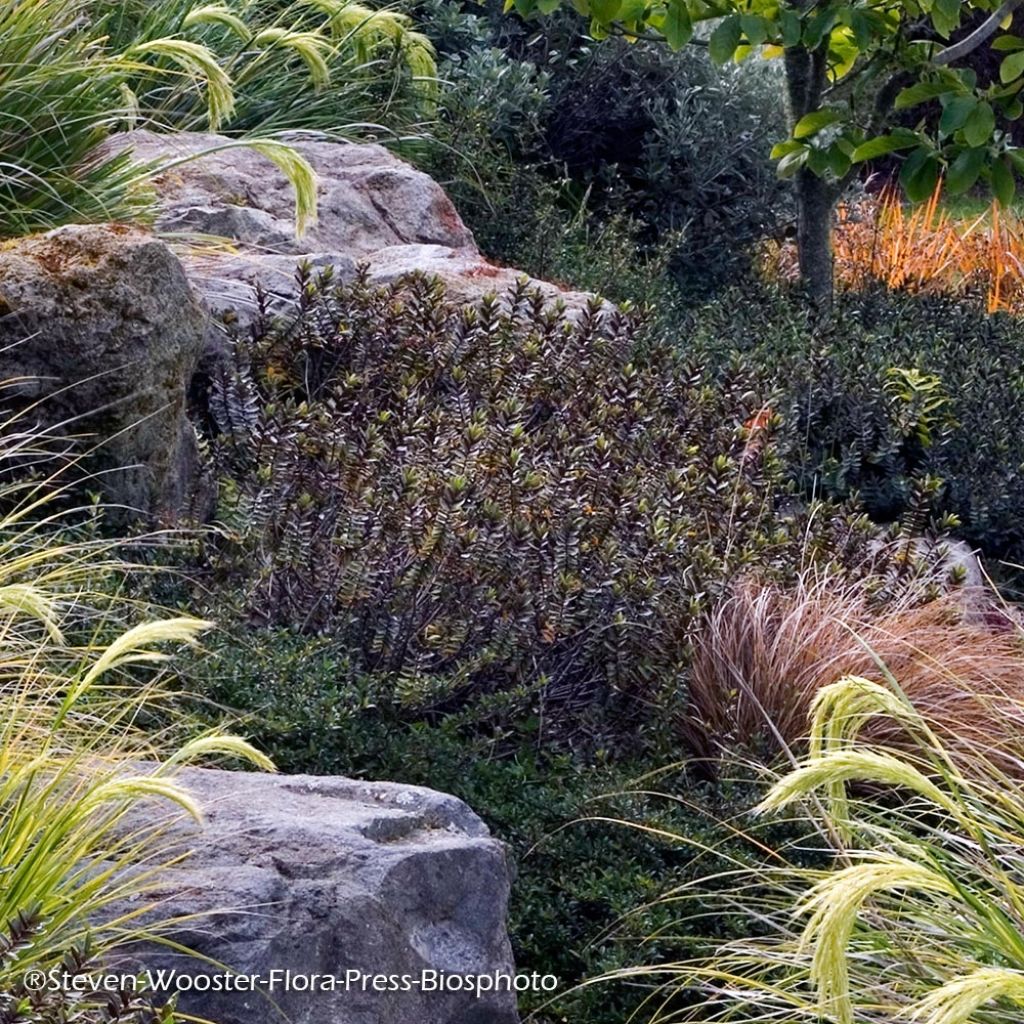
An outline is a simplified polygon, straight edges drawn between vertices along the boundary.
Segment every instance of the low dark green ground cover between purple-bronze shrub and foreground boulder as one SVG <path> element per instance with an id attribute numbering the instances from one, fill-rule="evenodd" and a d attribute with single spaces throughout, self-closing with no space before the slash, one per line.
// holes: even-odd
<path id="1" fill-rule="evenodd" d="M 246 735 L 282 771 L 451 793 L 508 845 L 515 962 L 561 982 L 552 1002 L 524 998 L 524 1018 L 536 1012 L 537 1024 L 623 1024 L 645 985 L 575 986 L 652 956 L 706 956 L 718 936 L 742 934 L 739 914 L 681 927 L 659 897 L 668 885 L 715 868 L 762 863 L 763 848 L 745 837 L 742 817 L 761 796 L 756 774 L 710 781 L 682 765 L 665 770 L 677 753 L 671 749 L 644 757 L 555 750 L 538 718 L 520 719 L 514 739 L 508 728 L 480 735 L 459 715 L 397 721 L 368 697 L 369 687 L 350 683 L 346 653 L 329 636 L 232 624 L 208 635 L 205 647 L 202 657 L 185 659 L 189 689 L 209 701 L 208 718 L 234 709 Z M 610 823 L 617 820 L 642 820 L 652 830 Z M 770 824 L 759 842 L 780 844 L 785 836 L 784 825 Z M 716 890 L 710 880 L 709 902 Z"/>

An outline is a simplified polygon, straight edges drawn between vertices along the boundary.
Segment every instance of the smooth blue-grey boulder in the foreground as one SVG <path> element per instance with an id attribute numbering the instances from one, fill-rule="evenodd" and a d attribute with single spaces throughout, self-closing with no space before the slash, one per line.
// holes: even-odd
<path id="1" fill-rule="evenodd" d="M 146 899 L 160 901 L 161 916 L 187 919 L 170 934 L 208 959 L 158 947 L 141 963 L 187 979 L 223 976 L 213 964 L 263 979 L 253 992 L 179 985 L 182 1012 L 219 1024 L 518 1020 L 507 990 L 431 987 L 433 979 L 513 970 L 505 851 L 463 803 L 344 778 L 188 769 L 180 780 L 207 820 L 171 819 L 171 838 L 194 852 Z M 147 811 L 144 823 L 167 813 Z M 356 973 L 412 983 L 402 990 L 355 981 Z M 321 980 L 306 987 L 314 975 Z"/>

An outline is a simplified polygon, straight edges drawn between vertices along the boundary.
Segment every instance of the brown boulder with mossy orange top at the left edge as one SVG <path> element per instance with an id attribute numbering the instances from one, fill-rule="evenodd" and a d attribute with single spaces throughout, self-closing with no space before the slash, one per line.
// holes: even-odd
<path id="1" fill-rule="evenodd" d="M 69 226 L 0 248 L 0 406 L 22 412 L 23 429 L 78 438 L 114 504 L 173 518 L 195 494 L 185 394 L 206 330 L 152 234 Z"/>

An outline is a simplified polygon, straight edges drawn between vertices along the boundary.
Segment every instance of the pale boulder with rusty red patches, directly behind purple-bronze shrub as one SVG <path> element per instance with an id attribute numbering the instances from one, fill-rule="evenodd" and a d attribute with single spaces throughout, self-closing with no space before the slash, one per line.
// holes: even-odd
<path id="1" fill-rule="evenodd" d="M 253 313 L 253 285 L 267 292 L 271 308 L 294 296 L 299 260 L 332 266 L 349 280 L 357 264 L 381 284 L 421 270 L 440 278 L 465 301 L 503 293 L 522 276 L 497 266 L 476 248 L 444 190 L 428 175 L 380 145 L 285 136 L 313 166 L 318 220 L 295 234 L 294 197 L 284 173 L 254 150 L 220 135 L 150 131 L 114 136 L 111 148 L 130 150 L 158 168 L 157 228 L 177 236 L 185 270 L 207 306 L 245 323 Z M 184 161 L 184 162 L 182 162 Z M 210 245 L 210 237 L 230 247 Z M 590 296 L 535 281 L 546 296 L 582 308 Z M 211 350 L 218 347 L 210 336 Z"/>

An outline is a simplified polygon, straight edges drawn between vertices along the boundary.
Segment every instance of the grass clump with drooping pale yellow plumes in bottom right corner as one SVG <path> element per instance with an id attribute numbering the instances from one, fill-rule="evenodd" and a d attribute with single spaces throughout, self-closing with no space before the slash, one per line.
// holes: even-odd
<path id="1" fill-rule="evenodd" d="M 899 746 L 868 740 L 879 720 L 903 733 Z M 737 876 L 730 909 L 744 915 L 746 937 L 710 962 L 652 969 L 649 1013 L 637 1019 L 1018 1019 L 1019 746 L 1013 762 L 1006 745 L 993 752 L 975 735 L 951 749 L 885 672 L 819 690 L 810 732 L 807 757 L 759 807 L 786 812 L 808 838 L 777 852 L 780 866 Z M 822 866 L 801 866 L 809 857 Z M 685 914 L 687 893 L 672 899 Z"/>

